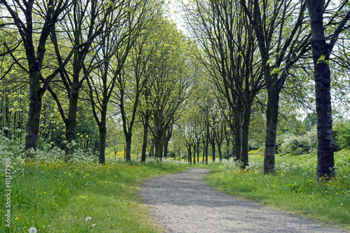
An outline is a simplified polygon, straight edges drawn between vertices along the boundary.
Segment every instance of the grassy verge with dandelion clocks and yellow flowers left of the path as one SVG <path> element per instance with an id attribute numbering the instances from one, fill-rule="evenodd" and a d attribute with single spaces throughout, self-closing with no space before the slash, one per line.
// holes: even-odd
<path id="1" fill-rule="evenodd" d="M 5 163 L 1 163 L 0 232 L 160 232 L 139 199 L 146 178 L 183 171 L 172 161 L 123 160 L 99 165 L 74 160 L 12 159 L 10 208 L 6 208 Z M 6 214 L 10 209 L 10 228 Z"/>

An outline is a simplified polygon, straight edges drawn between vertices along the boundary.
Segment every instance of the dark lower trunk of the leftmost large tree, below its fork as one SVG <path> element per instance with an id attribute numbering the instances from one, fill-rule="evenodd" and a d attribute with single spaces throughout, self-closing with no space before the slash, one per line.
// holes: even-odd
<path id="1" fill-rule="evenodd" d="M 38 132 L 40 125 L 41 105 L 42 105 L 42 88 L 40 85 L 39 71 L 30 73 L 29 76 L 29 113 L 27 122 L 27 136 L 25 137 L 25 150 L 33 148 L 36 150 L 38 145 Z M 34 154 L 27 153 L 28 157 L 34 157 Z"/>

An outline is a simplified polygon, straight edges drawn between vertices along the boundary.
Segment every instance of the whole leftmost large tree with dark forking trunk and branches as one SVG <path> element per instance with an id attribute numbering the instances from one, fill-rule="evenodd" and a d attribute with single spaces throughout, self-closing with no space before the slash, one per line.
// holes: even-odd
<path id="1" fill-rule="evenodd" d="M 62 20 L 62 13 L 71 6 L 71 1 L 49 0 L 36 2 L 29 0 L 21 3 L 19 0 L 1 0 L 0 3 L 6 8 L 8 15 L 13 21 L 13 24 L 7 24 L 6 26 L 15 26 L 20 36 L 19 45 L 25 48 L 25 57 L 23 58 L 27 61 L 27 69 L 20 64 L 22 57 L 12 57 L 14 62 L 29 76 L 29 113 L 25 150 L 31 148 L 36 150 L 43 94 L 48 89 L 52 78 L 61 71 L 72 55 L 72 53 L 67 55 L 66 60 L 57 69 L 54 69 L 44 77 L 42 69 L 45 67 L 45 62 L 48 62 L 45 59 L 45 45 L 48 42 L 50 33 L 55 28 L 55 24 Z M 38 40 L 36 40 L 35 34 L 39 34 Z M 8 52 L 12 53 L 11 50 Z M 34 156 L 30 153 L 27 155 Z"/>

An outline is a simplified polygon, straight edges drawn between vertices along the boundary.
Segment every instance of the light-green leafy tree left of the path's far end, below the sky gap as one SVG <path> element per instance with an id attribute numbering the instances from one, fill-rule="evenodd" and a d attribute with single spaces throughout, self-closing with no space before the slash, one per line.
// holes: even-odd
<path id="1" fill-rule="evenodd" d="M 186 111 L 186 101 L 195 88 L 195 63 L 188 59 L 188 45 L 174 24 L 172 37 L 165 41 L 165 57 L 151 80 L 151 132 L 155 138 L 155 156 L 162 158 L 163 137 L 167 129 Z"/>

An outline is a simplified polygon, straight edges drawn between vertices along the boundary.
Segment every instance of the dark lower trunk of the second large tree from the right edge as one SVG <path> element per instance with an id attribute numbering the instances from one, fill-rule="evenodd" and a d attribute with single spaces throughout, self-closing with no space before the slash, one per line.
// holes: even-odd
<path id="1" fill-rule="evenodd" d="M 279 117 L 279 91 L 268 90 L 266 107 L 266 134 L 264 152 L 264 174 L 272 174 L 275 169 L 277 122 Z"/>

